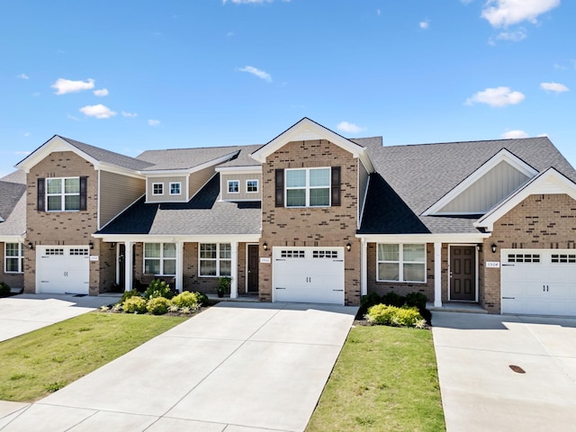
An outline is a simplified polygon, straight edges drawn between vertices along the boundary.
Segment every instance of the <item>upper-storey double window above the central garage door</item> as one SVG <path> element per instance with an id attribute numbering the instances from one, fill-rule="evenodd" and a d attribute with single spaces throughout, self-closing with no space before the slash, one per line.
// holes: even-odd
<path id="1" fill-rule="evenodd" d="M 330 168 L 286 169 L 286 207 L 330 205 Z"/>

